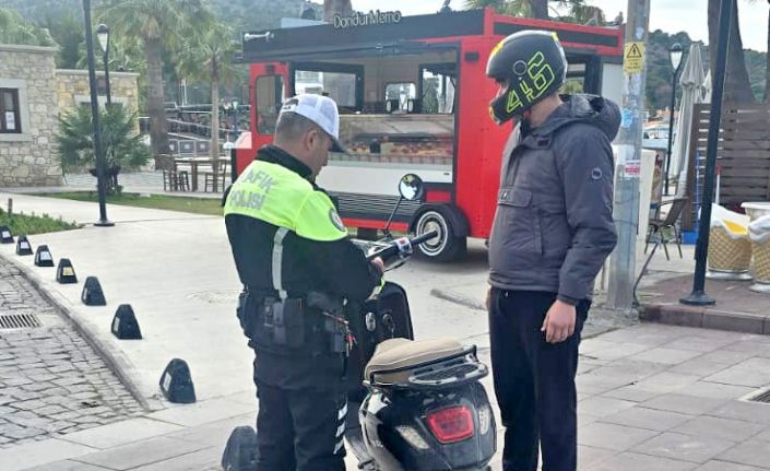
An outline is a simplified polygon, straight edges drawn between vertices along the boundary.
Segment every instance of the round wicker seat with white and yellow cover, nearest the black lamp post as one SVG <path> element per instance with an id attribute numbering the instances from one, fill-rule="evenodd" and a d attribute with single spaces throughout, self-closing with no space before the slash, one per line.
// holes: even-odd
<path id="1" fill-rule="evenodd" d="M 714 204 L 709 229 L 707 276 L 716 280 L 750 280 L 750 266 L 748 217 Z"/>

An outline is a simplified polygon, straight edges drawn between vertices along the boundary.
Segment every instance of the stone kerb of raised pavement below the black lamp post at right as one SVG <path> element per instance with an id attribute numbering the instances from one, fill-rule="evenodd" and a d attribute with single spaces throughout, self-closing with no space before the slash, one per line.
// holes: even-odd
<path id="1" fill-rule="evenodd" d="M 686 306 L 682 304 L 648 304 L 642 309 L 641 318 L 651 322 L 673 326 L 770 335 L 770 308 L 767 315 L 757 316 L 720 310 L 712 307 Z"/>

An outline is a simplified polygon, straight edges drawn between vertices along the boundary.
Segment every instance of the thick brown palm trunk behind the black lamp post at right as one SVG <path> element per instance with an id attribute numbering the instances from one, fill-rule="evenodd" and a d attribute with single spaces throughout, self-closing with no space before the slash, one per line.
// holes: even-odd
<path id="1" fill-rule="evenodd" d="M 709 0 L 709 63 L 716 63 L 716 43 L 719 36 L 719 10 L 721 0 Z M 713 70 L 713 68 L 712 68 Z M 727 38 L 727 66 L 724 81 L 724 102 L 754 103 L 754 94 L 746 70 L 741 26 L 738 25 L 738 3 L 733 4 L 733 17 Z"/>

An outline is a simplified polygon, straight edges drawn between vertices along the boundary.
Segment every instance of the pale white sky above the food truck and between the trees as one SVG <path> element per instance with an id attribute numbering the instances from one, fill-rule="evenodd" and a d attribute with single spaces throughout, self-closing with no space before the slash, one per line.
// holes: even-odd
<path id="1" fill-rule="evenodd" d="M 765 51 L 768 48 L 768 2 L 765 0 L 737 0 L 741 37 L 744 47 Z M 402 13 L 435 13 L 442 0 L 353 0 L 356 10 L 401 10 Z M 619 11 L 628 17 L 627 0 L 587 0 L 588 4 L 604 10 L 607 19 L 614 19 Z M 453 0 L 452 8 L 464 8 L 464 0 Z M 386 7 L 383 7 L 386 5 Z M 692 39 L 709 43 L 707 20 L 708 0 L 651 0 L 650 30 L 663 30 L 666 33 L 687 32 Z"/>

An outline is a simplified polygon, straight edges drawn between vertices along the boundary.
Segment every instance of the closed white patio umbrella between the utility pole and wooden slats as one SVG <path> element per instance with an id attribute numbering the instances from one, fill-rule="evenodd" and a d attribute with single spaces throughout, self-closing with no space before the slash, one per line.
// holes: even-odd
<path id="1" fill-rule="evenodd" d="M 703 61 L 700 57 L 700 47 L 697 44 L 691 44 L 682 76 L 679 76 L 682 101 L 679 102 L 679 116 L 675 126 L 676 136 L 672 148 L 671 168 L 668 170 L 668 178 L 678 177 L 677 196 L 684 195 L 687 185 L 687 153 L 690 148 L 692 107 L 697 103 L 703 103 L 704 83 L 706 74 L 703 73 Z"/>

